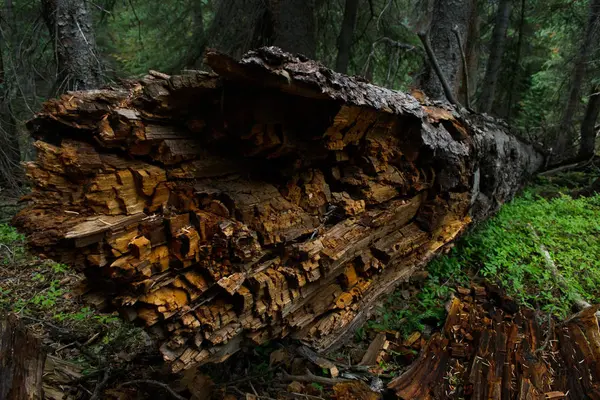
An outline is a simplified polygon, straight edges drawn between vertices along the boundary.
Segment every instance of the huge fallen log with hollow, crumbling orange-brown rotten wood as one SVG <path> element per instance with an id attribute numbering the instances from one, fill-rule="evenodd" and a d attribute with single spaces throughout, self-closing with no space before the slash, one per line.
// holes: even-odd
<path id="1" fill-rule="evenodd" d="M 286 335 L 340 345 L 542 163 L 494 121 L 277 48 L 207 62 L 46 103 L 14 220 L 173 371 Z"/>

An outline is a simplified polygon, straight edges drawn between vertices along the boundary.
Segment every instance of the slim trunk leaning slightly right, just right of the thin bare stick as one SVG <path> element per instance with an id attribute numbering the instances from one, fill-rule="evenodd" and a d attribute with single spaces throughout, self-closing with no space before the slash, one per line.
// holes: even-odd
<path id="1" fill-rule="evenodd" d="M 502 64 L 504 55 L 504 45 L 506 44 L 506 31 L 510 23 L 511 0 L 501 0 L 498 5 L 496 15 L 496 24 L 492 32 L 490 42 L 490 57 L 488 58 L 481 89 L 481 99 L 479 100 L 479 111 L 489 113 L 494 104 L 494 95 L 496 94 L 496 83 L 498 82 L 498 73 Z"/>

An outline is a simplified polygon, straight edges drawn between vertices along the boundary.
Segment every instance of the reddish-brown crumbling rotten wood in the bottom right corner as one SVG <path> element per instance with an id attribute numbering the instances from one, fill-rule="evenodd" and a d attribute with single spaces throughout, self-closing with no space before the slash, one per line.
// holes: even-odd
<path id="1" fill-rule="evenodd" d="M 451 304 L 442 332 L 389 384 L 401 399 L 598 399 L 598 307 L 555 324 L 483 287 Z"/>

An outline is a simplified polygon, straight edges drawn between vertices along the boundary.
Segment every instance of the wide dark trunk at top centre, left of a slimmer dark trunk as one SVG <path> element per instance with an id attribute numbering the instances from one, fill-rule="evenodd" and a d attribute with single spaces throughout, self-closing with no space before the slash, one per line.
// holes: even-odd
<path id="1" fill-rule="evenodd" d="M 269 0 L 273 44 L 290 53 L 314 58 L 317 51 L 315 0 Z"/>

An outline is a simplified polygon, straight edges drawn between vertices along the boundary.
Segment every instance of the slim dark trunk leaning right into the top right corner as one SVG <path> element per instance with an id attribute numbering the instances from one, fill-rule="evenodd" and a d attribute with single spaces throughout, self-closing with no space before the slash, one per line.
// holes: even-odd
<path id="1" fill-rule="evenodd" d="M 553 154 L 559 158 L 568 150 L 567 145 L 573 140 L 573 119 L 577 112 L 577 106 L 581 102 L 581 85 L 585 76 L 585 68 L 590 56 L 590 50 L 594 43 L 595 27 L 600 22 L 600 0 L 590 0 L 589 17 L 585 29 L 585 35 L 579 48 L 579 54 L 573 67 L 569 97 L 564 109 L 562 119 L 558 127 L 556 148 Z"/>

